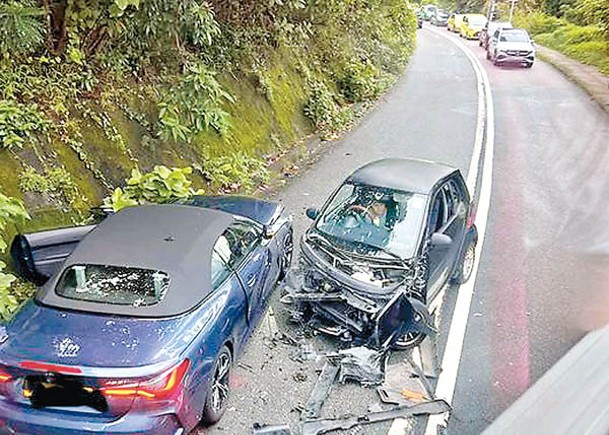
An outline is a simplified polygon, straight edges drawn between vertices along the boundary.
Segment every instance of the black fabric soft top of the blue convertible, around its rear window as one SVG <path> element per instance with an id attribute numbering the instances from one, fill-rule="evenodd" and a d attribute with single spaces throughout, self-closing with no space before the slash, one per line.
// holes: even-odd
<path id="1" fill-rule="evenodd" d="M 37 299 L 61 308 L 138 317 L 189 311 L 211 291 L 212 248 L 234 220 L 229 213 L 184 205 L 126 208 L 82 239 Z M 57 295 L 55 286 L 63 271 L 76 264 L 159 270 L 169 275 L 170 283 L 163 299 L 151 306 L 102 304 Z"/>

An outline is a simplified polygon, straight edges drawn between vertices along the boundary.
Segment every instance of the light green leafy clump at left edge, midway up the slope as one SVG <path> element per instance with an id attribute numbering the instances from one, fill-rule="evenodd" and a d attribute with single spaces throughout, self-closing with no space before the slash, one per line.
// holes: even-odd
<path id="1" fill-rule="evenodd" d="M 0 100 L 0 148 L 21 148 L 26 139 L 47 132 L 50 122 L 36 105 L 26 106 L 12 100 Z"/>

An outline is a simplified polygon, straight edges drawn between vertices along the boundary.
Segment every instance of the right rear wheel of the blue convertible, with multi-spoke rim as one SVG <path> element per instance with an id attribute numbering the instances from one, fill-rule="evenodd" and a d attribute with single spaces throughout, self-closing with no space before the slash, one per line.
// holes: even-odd
<path id="1" fill-rule="evenodd" d="M 206 426 L 220 421 L 222 415 L 224 415 L 224 411 L 226 411 L 228 398 L 230 396 L 228 379 L 232 364 L 233 357 L 230 350 L 228 347 L 222 346 L 214 362 L 212 383 L 207 393 L 205 406 L 203 407 L 201 423 Z"/>

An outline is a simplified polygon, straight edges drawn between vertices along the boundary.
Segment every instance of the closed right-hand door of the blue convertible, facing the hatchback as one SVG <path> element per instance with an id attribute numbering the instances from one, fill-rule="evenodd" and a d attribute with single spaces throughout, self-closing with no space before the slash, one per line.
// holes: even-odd
<path id="1" fill-rule="evenodd" d="M 273 288 L 271 253 L 262 243 L 262 232 L 253 223 L 237 222 L 226 230 L 230 267 L 237 272 L 248 298 L 248 319 L 256 325 Z"/>

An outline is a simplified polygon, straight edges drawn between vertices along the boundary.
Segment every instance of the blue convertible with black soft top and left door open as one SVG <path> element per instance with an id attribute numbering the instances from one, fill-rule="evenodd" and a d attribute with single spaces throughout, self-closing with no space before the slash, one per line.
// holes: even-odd
<path id="1" fill-rule="evenodd" d="M 199 196 L 18 236 L 12 254 L 48 280 L 0 328 L 0 428 L 175 435 L 222 416 L 292 229 L 279 205 Z"/>

